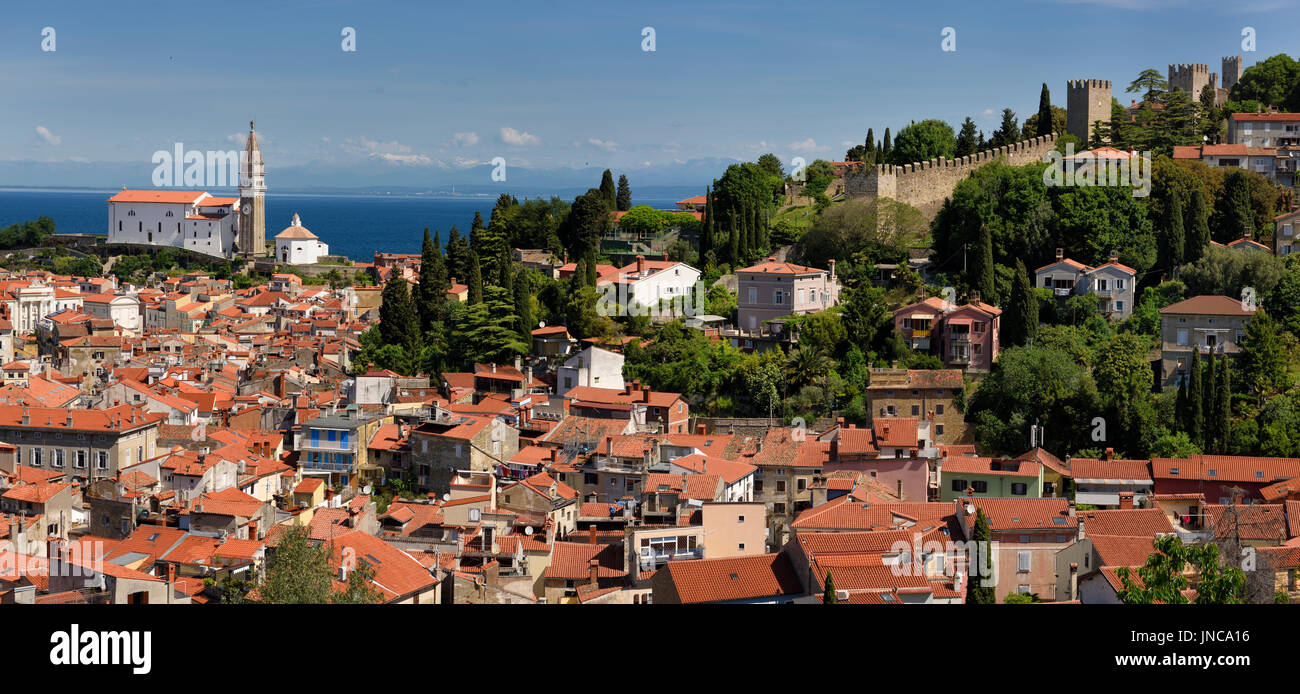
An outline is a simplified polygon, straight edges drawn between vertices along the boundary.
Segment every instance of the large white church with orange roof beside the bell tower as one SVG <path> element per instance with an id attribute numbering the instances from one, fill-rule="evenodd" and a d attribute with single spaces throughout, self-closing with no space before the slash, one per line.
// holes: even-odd
<path id="1" fill-rule="evenodd" d="M 238 212 L 238 198 L 204 191 L 122 190 L 108 199 L 108 243 L 174 246 L 229 257 Z"/>

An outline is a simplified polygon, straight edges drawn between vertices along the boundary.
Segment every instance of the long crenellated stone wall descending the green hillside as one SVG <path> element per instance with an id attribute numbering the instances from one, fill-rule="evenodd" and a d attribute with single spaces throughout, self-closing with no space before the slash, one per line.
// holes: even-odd
<path id="1" fill-rule="evenodd" d="M 975 169 L 1000 159 L 1013 166 L 1043 161 L 1043 155 L 1056 147 L 1056 134 L 1043 135 L 958 159 L 854 169 L 845 172 L 844 187 L 850 198 L 892 198 L 933 218 L 957 183 Z"/>

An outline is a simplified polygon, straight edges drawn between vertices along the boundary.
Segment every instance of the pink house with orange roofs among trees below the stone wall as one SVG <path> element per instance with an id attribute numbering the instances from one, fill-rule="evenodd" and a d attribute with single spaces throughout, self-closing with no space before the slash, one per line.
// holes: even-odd
<path id="1" fill-rule="evenodd" d="M 948 368 L 987 372 L 997 360 L 1002 309 L 979 300 L 953 305 L 930 298 L 894 312 L 894 330 L 913 350 L 933 352 Z"/>

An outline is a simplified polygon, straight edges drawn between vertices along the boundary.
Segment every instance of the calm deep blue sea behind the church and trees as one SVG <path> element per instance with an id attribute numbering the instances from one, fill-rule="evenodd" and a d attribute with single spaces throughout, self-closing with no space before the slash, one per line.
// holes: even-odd
<path id="1" fill-rule="evenodd" d="M 55 220 L 61 234 L 107 234 L 108 198 L 116 191 L 0 190 L 0 229 L 42 214 Z M 520 196 L 523 199 L 523 196 Z M 329 244 L 330 253 L 370 261 L 376 252 L 419 253 L 424 227 L 442 231 L 451 225 L 469 233 L 474 211 L 488 221 L 497 198 L 429 198 L 415 195 L 266 195 L 266 239 L 282 231 L 294 213 L 303 226 Z M 660 209 L 672 199 L 636 199 Z"/>

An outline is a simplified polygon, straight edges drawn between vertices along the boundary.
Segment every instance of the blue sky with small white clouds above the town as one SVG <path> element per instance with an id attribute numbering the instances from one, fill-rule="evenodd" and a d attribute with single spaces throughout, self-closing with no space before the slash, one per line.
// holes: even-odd
<path id="1" fill-rule="evenodd" d="M 633 181 L 767 151 L 841 159 L 868 126 L 971 116 L 992 133 L 1004 107 L 1034 113 L 1043 82 L 1063 107 L 1071 78 L 1112 79 L 1127 100 L 1143 68 L 1218 71 L 1245 26 L 1247 65 L 1300 53 L 1283 31 L 1294 4 L 20 0 L 0 18 L 0 162 L 126 162 L 147 181 L 156 149 L 229 149 L 250 118 L 273 173 L 339 185 L 478 181 L 495 156 Z M 945 26 L 956 52 L 940 49 Z M 12 170 L 0 185 L 25 183 Z"/>

